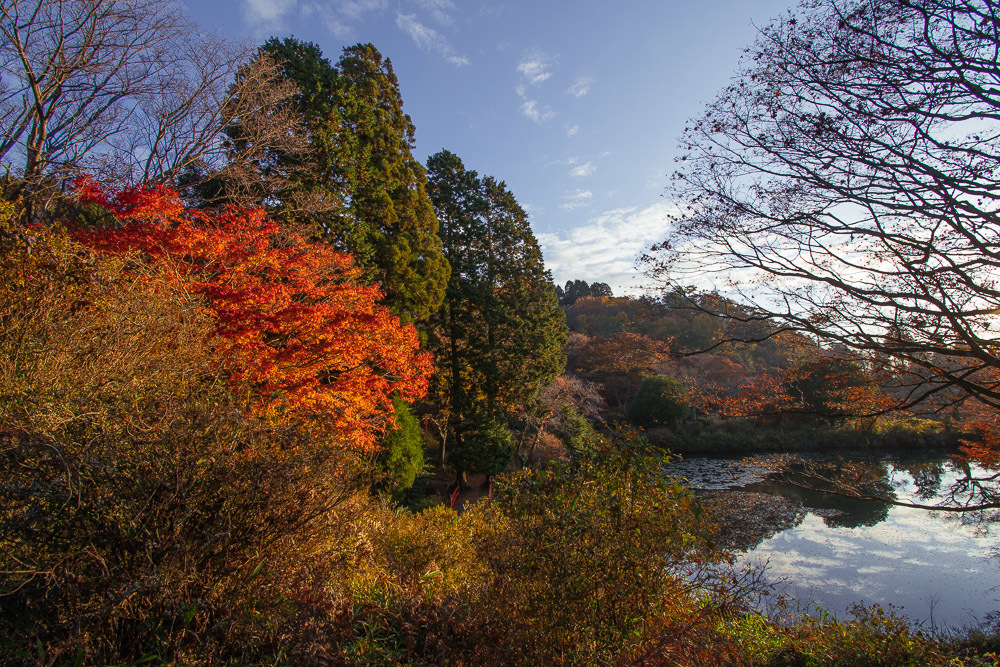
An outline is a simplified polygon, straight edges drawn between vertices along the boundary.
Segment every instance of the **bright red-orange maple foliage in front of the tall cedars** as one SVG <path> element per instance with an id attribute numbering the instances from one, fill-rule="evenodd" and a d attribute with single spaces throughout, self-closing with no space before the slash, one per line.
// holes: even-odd
<path id="1" fill-rule="evenodd" d="M 431 360 L 416 330 L 379 305 L 378 287 L 359 284 L 350 255 L 282 234 L 259 209 L 188 209 L 163 186 L 108 193 L 88 179 L 77 188 L 116 223 L 79 241 L 141 253 L 204 299 L 217 363 L 251 412 L 367 449 L 391 423 L 394 393 L 425 394 Z"/>

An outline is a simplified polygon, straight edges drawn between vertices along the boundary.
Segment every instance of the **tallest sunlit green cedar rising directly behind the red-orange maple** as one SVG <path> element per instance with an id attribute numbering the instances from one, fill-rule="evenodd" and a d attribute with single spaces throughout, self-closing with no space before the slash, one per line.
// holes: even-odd
<path id="1" fill-rule="evenodd" d="M 274 160 L 296 187 L 334 204 L 310 222 L 355 257 L 394 314 L 426 321 L 441 305 L 448 263 L 389 59 L 357 44 L 331 65 L 318 46 L 294 38 L 271 39 L 262 50 L 298 86 L 294 104 L 309 135 L 308 164 Z"/>

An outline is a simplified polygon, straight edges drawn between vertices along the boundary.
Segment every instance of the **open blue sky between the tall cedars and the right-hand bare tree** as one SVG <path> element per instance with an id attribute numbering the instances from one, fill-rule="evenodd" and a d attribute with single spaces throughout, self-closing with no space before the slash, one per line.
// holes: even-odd
<path id="1" fill-rule="evenodd" d="M 442 148 L 507 182 L 558 284 L 635 292 L 662 240 L 676 142 L 789 0 L 185 0 L 234 39 L 294 35 L 392 60 L 418 159 Z"/>

